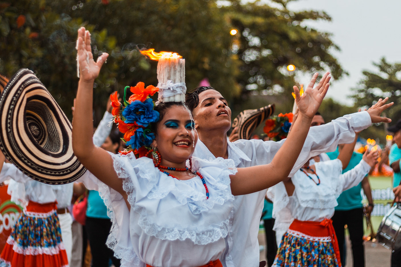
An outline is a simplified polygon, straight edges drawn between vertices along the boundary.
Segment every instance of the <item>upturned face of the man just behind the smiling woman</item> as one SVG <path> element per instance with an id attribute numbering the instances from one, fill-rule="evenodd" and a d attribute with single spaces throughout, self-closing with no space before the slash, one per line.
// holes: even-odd
<path id="1" fill-rule="evenodd" d="M 199 104 L 192 111 L 192 116 L 199 134 L 211 129 L 227 132 L 231 127 L 231 109 L 227 106 L 227 100 L 213 89 L 199 94 Z"/>

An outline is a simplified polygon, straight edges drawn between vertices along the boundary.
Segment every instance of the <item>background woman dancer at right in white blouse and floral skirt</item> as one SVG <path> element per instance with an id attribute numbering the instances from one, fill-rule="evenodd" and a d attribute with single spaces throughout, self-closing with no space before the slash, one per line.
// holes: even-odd
<path id="1" fill-rule="evenodd" d="M 346 146 L 352 152 L 354 143 Z M 275 216 L 281 220 L 290 216 L 294 220 L 281 239 L 274 267 L 341 266 L 330 219 L 338 204 L 336 199 L 342 191 L 359 184 L 378 157 L 377 152 L 366 152 L 355 168 L 341 174 L 343 166 L 348 165 L 348 154 L 344 149 L 335 160 L 315 162 L 311 166 L 308 161 L 291 180 L 269 188 L 267 194 L 273 200 Z"/>

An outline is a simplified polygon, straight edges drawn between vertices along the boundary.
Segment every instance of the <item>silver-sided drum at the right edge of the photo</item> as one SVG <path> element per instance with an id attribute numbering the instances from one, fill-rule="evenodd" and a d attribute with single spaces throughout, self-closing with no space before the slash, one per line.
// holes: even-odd
<path id="1" fill-rule="evenodd" d="M 393 206 L 383 217 L 377 230 L 377 240 L 387 249 L 401 248 L 401 204 Z"/>

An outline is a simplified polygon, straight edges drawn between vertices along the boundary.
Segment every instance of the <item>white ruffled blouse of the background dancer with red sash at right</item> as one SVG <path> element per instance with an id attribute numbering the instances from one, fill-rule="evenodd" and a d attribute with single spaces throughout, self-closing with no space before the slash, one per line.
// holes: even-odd
<path id="1" fill-rule="evenodd" d="M 274 229 L 279 235 L 288 230 L 294 218 L 316 222 L 330 219 L 338 205 L 338 196 L 358 185 L 371 169 L 364 160 L 344 174 L 341 174 L 342 163 L 338 159 L 315 162 L 314 166 L 320 178 L 319 185 L 314 182 L 318 182 L 315 174 L 308 173 L 312 180 L 299 170 L 291 178 L 295 186 L 292 196 L 288 196 L 283 182 L 269 188 L 267 196 L 273 200 L 273 218 L 276 219 Z"/>

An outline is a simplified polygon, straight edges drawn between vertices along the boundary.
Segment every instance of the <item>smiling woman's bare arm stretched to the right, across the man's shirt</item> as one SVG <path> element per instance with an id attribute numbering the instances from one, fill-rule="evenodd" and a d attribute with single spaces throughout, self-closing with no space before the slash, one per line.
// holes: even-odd
<path id="1" fill-rule="evenodd" d="M 302 150 L 312 118 L 320 107 L 329 87 L 330 75 L 326 73 L 319 84 L 313 88 L 317 77 L 318 73 L 315 73 L 302 97 L 298 87 L 294 86 L 300 115 L 294 123 L 292 131 L 288 134 L 286 142 L 278 150 L 271 163 L 239 168 L 237 174 L 231 176 L 231 192 L 234 195 L 257 192 L 288 178 Z"/>

